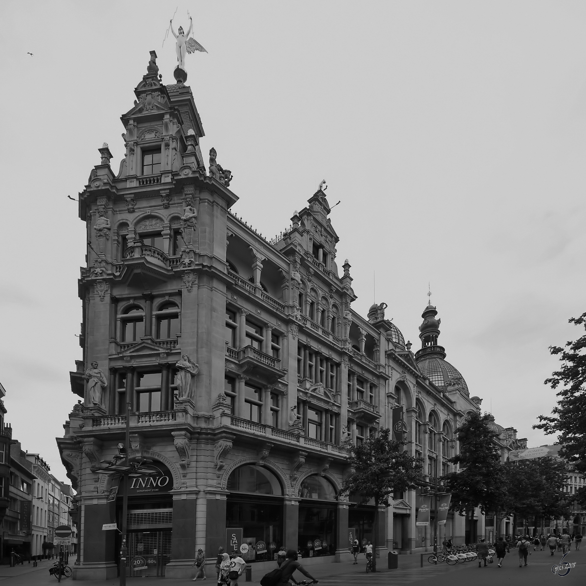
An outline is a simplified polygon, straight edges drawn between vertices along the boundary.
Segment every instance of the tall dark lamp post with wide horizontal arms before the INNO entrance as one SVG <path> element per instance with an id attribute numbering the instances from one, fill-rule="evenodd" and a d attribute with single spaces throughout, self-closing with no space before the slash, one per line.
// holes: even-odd
<path id="1" fill-rule="evenodd" d="M 112 476 L 119 476 L 122 481 L 122 547 L 120 549 L 120 586 L 126 585 L 126 566 L 127 566 L 127 516 L 128 516 L 128 477 L 141 476 L 144 473 L 155 473 L 158 469 L 148 468 L 145 464 L 149 464 L 152 460 L 147 458 L 130 458 L 130 403 L 126 403 L 126 430 L 124 437 L 124 444 L 120 442 L 117 445 L 118 453 L 120 455 L 114 456 L 110 462 L 102 461 L 100 464 L 105 466 L 91 466 L 91 472 L 100 472 L 101 474 L 111 474 Z M 124 465 L 118 464 L 120 460 L 124 460 Z"/>

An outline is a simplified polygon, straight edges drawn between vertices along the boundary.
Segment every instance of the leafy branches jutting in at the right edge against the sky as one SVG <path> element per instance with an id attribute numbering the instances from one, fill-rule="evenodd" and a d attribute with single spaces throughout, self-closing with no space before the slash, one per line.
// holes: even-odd
<path id="1" fill-rule="evenodd" d="M 570 318 L 569 323 L 586 329 L 586 314 Z M 534 429 L 543 430 L 547 435 L 559 434 L 562 445 L 560 456 L 570 462 L 577 471 L 586 473 L 586 335 L 575 342 L 566 342 L 565 347 L 550 346 L 550 354 L 560 356 L 561 367 L 544 381 L 552 389 L 563 387 L 557 393 L 557 406 L 551 416 L 540 415 L 540 423 Z"/>

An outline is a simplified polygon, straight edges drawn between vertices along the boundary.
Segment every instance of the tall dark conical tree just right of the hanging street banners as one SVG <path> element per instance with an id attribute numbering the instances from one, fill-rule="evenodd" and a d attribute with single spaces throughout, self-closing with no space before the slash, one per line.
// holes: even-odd
<path id="1" fill-rule="evenodd" d="M 452 493 L 451 509 L 465 515 L 470 513 L 468 542 L 473 541 L 474 508 L 483 513 L 503 510 L 506 484 L 500 464 L 499 449 L 490 430 L 490 415 L 477 411 L 469 413 L 456 429 L 460 453 L 449 459 L 458 464 L 458 472 L 445 475 L 446 488 Z"/>

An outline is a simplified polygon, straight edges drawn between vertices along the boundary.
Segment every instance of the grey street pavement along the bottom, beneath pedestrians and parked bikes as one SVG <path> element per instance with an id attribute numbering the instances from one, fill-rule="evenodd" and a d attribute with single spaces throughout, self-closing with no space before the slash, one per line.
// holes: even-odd
<path id="1" fill-rule="evenodd" d="M 359 565 L 352 563 L 324 564 L 309 567 L 309 571 L 319 580 L 322 586 L 387 586 L 421 584 L 421 586 L 503 586 L 507 584 L 515 586 L 541 586 L 542 584 L 558 584 L 560 586 L 584 586 L 586 584 L 586 553 L 584 550 L 572 550 L 564 561 L 575 563 L 575 567 L 565 576 L 553 574 L 551 567 L 560 563 L 562 554 L 556 552 L 551 556 L 549 551 L 532 551 L 529 556 L 529 565 L 519 567 L 517 550 L 507 554 L 502 568 L 498 568 L 496 561 L 486 568 L 478 567 L 477 562 L 468 562 L 449 566 L 444 564 L 432 565 L 427 563 L 427 556 L 424 556 L 424 566 L 420 567 L 420 555 L 400 556 L 399 568 L 389 570 L 386 563 L 380 564 L 379 572 L 366 574 L 365 561 L 360 559 Z M 382 560 L 386 562 L 386 560 Z M 57 579 L 49 575 L 49 567 L 52 560 L 42 561 L 39 567 L 25 563 L 24 566 L 10 568 L 0 566 L 0 586 L 45 586 L 57 584 Z M 214 574 L 213 567 L 208 571 L 211 576 Z M 252 582 L 240 581 L 240 586 L 259 586 L 261 575 L 254 573 Z M 299 580 L 302 575 L 295 575 Z M 61 583 L 70 583 L 71 578 L 62 578 Z M 201 581 L 198 581 L 201 583 Z M 79 582 L 81 584 L 81 582 Z M 118 586 L 118 578 L 115 580 L 100 580 L 83 582 L 88 586 Z M 208 578 L 203 581 L 203 586 L 214 586 L 215 580 Z M 171 580 L 169 578 L 128 578 L 128 586 L 187 586 L 193 584 L 191 580 Z"/>

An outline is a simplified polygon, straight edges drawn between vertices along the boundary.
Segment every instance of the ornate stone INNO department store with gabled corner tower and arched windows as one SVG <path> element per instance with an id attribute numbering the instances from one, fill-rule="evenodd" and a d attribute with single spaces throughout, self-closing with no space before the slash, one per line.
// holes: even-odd
<path id="1" fill-rule="evenodd" d="M 79 195 L 91 246 L 71 389 L 83 404 L 57 438 L 77 491 L 75 576 L 117 574 L 119 534 L 101 527 L 120 526 L 121 498 L 108 503 L 111 479 L 90 466 L 117 454 L 126 401 L 132 454 L 160 470 L 130 490 L 129 557 L 148 565 L 131 575 L 191 577 L 198 547 L 212 560 L 234 543 L 255 563 L 280 546 L 312 563 L 345 560 L 350 534 L 373 540 L 375 513 L 336 497 L 349 446 L 402 417 L 407 449 L 433 480 L 478 401 L 444 360 L 433 306 L 416 355 L 385 304 L 367 319 L 353 311 L 321 189 L 271 242 L 230 213 L 238 198 L 214 151 L 206 170 L 190 88 L 163 86 L 155 58 L 121 118 L 118 173 L 104 144 Z M 381 554 L 429 546 L 415 491 L 396 497 L 378 512 Z M 463 543 L 465 531 L 450 514 L 448 537 Z"/>

